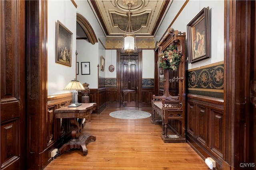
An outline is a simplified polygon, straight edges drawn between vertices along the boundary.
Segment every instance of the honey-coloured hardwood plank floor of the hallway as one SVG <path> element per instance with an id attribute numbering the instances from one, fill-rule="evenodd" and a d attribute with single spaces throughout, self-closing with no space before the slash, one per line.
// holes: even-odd
<path id="1" fill-rule="evenodd" d="M 127 108 L 121 108 L 127 109 Z M 130 108 L 135 109 L 135 108 Z M 164 143 L 162 125 L 145 119 L 116 119 L 106 108 L 92 114 L 84 134 L 96 136 L 86 145 L 88 154 L 70 150 L 57 156 L 44 170 L 208 170 L 204 160 L 187 143 Z M 140 109 L 151 113 L 151 108 Z"/>

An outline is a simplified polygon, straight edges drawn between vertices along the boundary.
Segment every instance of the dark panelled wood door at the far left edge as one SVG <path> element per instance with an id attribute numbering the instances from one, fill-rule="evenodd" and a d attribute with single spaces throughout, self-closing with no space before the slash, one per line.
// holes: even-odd
<path id="1" fill-rule="evenodd" d="M 25 1 L 0 1 L 0 169 L 26 169 Z"/>

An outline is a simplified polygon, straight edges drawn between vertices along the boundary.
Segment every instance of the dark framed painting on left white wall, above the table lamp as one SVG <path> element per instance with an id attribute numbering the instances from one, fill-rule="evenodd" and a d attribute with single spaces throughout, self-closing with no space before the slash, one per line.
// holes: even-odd
<path id="1" fill-rule="evenodd" d="M 60 21 L 56 31 L 56 63 L 71 66 L 73 33 Z"/>

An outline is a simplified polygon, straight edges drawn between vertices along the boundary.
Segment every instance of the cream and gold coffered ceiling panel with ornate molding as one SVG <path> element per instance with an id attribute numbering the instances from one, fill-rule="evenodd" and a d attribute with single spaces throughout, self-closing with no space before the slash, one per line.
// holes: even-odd
<path id="1" fill-rule="evenodd" d="M 124 35 L 128 24 L 128 3 L 133 4 L 130 9 L 133 34 L 154 37 L 170 6 L 170 0 L 89 1 L 106 37 Z"/>

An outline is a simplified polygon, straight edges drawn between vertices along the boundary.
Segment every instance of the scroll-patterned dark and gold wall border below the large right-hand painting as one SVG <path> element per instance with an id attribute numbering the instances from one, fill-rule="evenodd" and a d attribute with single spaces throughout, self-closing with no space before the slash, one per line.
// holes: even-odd
<path id="1" fill-rule="evenodd" d="M 224 61 L 190 69 L 187 75 L 188 93 L 223 99 Z"/>

